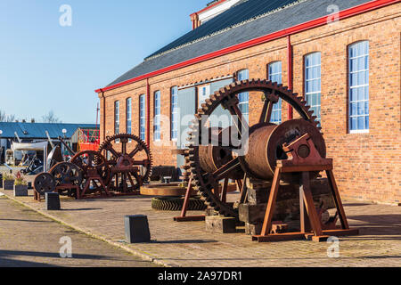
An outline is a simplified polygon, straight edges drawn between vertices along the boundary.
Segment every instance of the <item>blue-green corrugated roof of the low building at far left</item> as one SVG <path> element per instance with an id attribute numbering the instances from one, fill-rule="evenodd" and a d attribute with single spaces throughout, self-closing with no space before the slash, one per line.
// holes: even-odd
<path id="1" fill-rule="evenodd" d="M 38 139 L 47 136 L 45 131 L 47 131 L 51 138 L 56 139 L 62 134 L 62 129 L 66 129 L 66 137 L 70 138 L 78 128 L 94 128 L 94 124 L 48 124 L 48 123 L 5 123 L 0 122 L 0 130 L 3 134 L 0 134 L 1 138 L 14 138 L 14 132 L 20 136 L 20 139 Z"/>

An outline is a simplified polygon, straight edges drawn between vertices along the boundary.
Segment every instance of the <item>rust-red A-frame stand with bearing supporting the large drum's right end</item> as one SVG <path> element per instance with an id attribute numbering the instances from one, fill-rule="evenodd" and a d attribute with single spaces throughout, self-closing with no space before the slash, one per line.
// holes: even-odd
<path id="1" fill-rule="evenodd" d="M 260 235 L 252 236 L 258 242 L 307 239 L 325 241 L 330 236 L 357 235 L 358 230 L 349 229 L 347 216 L 340 199 L 340 193 L 332 172 L 332 159 L 323 159 L 315 149 L 309 134 L 305 134 L 290 144 L 284 144 L 283 150 L 288 159 L 278 160 L 274 171 L 274 180 L 269 194 L 265 220 Z M 323 229 L 317 214 L 312 192 L 310 190 L 310 173 L 325 171 L 329 180 L 331 194 L 334 199 L 340 226 L 333 225 L 331 229 Z M 283 173 L 299 173 L 299 213 L 300 231 L 272 233 L 273 215 L 280 179 Z M 305 215 L 307 213 L 307 216 Z M 307 219 L 308 217 L 308 219 Z M 310 229 L 310 230 L 309 230 Z"/>

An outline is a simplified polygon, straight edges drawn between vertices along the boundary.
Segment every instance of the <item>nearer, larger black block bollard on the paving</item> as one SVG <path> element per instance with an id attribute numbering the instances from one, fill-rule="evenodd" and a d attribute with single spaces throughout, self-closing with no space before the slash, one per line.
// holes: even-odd
<path id="1" fill-rule="evenodd" d="M 124 224 L 126 226 L 126 240 L 128 243 L 151 241 L 147 216 L 125 216 Z"/>

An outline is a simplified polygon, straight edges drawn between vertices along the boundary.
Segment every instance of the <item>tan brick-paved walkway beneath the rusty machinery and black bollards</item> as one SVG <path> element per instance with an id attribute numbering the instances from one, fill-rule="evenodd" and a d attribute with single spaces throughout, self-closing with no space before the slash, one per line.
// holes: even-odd
<path id="1" fill-rule="evenodd" d="M 12 191 L 4 191 L 12 196 Z M 340 257 L 327 256 L 329 244 L 313 241 L 252 242 L 243 232 L 210 234 L 204 222 L 175 223 L 177 212 L 151 209 L 151 197 L 61 199 L 62 211 L 45 211 L 44 202 L 20 202 L 76 229 L 120 245 L 143 258 L 172 266 L 401 266 L 401 207 L 344 201 L 348 222 L 360 235 L 340 238 Z M 126 244 L 127 215 L 148 216 L 151 243 Z M 190 212 L 200 215 L 201 212 Z"/>

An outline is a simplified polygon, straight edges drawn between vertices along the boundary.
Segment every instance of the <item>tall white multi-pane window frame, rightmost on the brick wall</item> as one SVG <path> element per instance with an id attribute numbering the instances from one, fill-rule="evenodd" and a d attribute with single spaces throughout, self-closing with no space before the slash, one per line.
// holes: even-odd
<path id="1" fill-rule="evenodd" d="M 364 46 L 364 49 L 366 48 L 366 50 L 365 50 L 365 53 L 363 53 L 363 54 L 356 54 L 356 55 L 353 55 L 353 56 L 351 56 L 351 49 L 353 48 L 353 47 L 357 47 L 357 46 L 359 46 L 359 45 L 366 45 L 366 46 Z M 354 44 L 351 44 L 351 45 L 348 45 L 348 131 L 349 131 L 349 134 L 368 134 L 369 133 L 369 125 L 370 125 L 370 114 L 369 114 L 369 69 L 370 69 L 370 64 L 369 64 L 369 60 L 370 60 L 370 57 L 369 57 L 369 51 L 370 51 L 370 46 L 369 46 L 369 41 L 359 41 L 359 42 L 356 42 L 356 43 L 354 43 Z M 358 52 L 358 48 L 356 48 L 356 52 Z M 364 62 L 366 62 L 367 61 L 367 69 L 366 69 L 366 66 L 364 66 L 364 69 L 359 69 L 359 67 L 356 67 L 356 70 L 354 70 L 354 69 L 352 69 L 352 67 L 353 67 L 353 65 L 351 64 L 352 63 L 352 60 L 358 60 L 358 59 L 361 59 L 361 58 L 364 58 L 365 60 L 364 60 Z M 366 78 L 366 83 L 365 84 L 357 84 L 357 85 L 351 85 L 351 82 L 352 82 L 352 80 L 351 80 L 351 77 L 352 77 L 352 75 L 353 74 L 356 74 L 356 73 L 361 73 L 361 72 L 367 72 L 367 74 L 365 74 L 365 76 L 367 77 Z M 356 89 L 356 88 L 361 88 L 361 87 L 364 87 L 364 88 L 366 88 L 367 89 L 367 94 L 365 94 L 364 95 L 364 99 L 362 99 L 362 100 L 359 100 L 359 99 L 356 99 L 356 100 L 353 100 L 352 101 L 352 91 L 353 91 L 353 89 Z M 357 97 L 357 95 L 356 95 L 356 97 Z M 367 99 L 366 99 L 367 98 Z M 358 105 L 358 103 L 367 103 L 367 106 L 368 106 L 368 108 L 367 108 L 367 113 L 365 112 L 365 107 L 364 107 L 364 109 L 363 109 L 363 114 L 362 115 L 358 115 L 358 107 L 356 107 L 356 115 L 355 114 L 353 114 L 352 113 L 352 104 L 356 104 L 356 106 Z M 351 122 L 351 120 L 352 120 L 352 118 L 359 118 L 359 117 L 363 117 L 364 118 L 364 128 L 363 129 L 351 129 L 351 127 L 352 127 L 352 122 Z M 366 117 L 368 118 L 368 124 L 367 124 L 367 126 L 366 126 Z"/>

